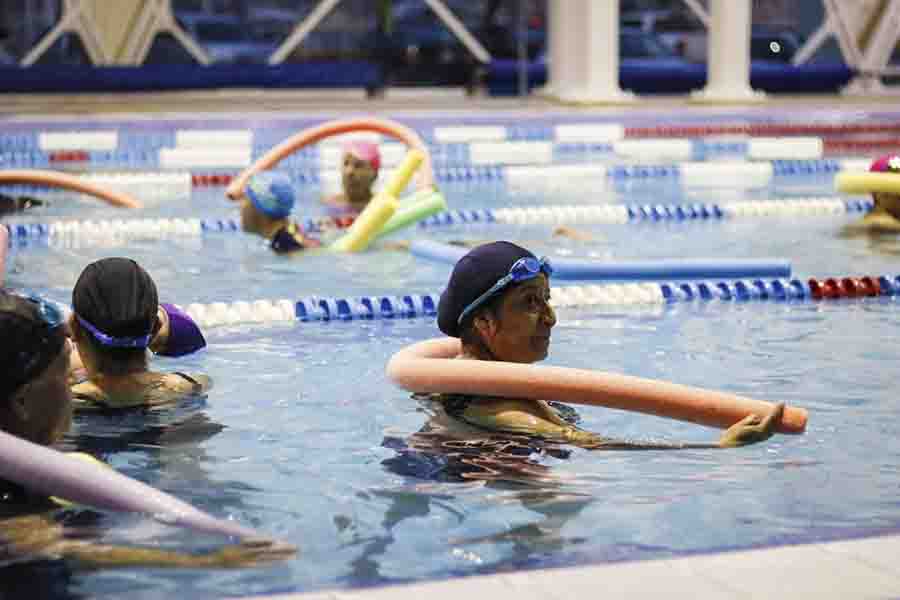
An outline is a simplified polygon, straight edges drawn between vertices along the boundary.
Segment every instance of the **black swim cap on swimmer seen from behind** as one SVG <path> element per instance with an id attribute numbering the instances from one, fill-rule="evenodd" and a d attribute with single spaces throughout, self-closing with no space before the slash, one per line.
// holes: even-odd
<path id="1" fill-rule="evenodd" d="M 159 296 L 139 264 L 130 258 L 104 258 L 81 272 L 72 290 L 72 308 L 106 336 L 140 337 L 153 332 Z"/>

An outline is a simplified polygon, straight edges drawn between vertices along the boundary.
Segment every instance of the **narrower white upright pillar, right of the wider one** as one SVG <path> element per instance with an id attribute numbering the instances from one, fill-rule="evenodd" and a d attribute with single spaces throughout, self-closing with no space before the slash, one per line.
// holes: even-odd
<path id="1" fill-rule="evenodd" d="M 698 102 L 761 102 L 750 87 L 751 0 L 710 0 L 706 87 L 692 94 Z"/>

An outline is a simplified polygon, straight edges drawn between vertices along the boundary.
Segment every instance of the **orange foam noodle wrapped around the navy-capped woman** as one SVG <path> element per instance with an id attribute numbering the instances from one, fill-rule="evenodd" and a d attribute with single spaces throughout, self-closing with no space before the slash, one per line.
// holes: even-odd
<path id="1" fill-rule="evenodd" d="M 725 392 L 627 375 L 499 361 L 455 360 L 460 342 L 437 338 L 407 346 L 391 358 L 388 377 L 411 392 L 469 394 L 605 406 L 727 428 L 747 415 L 765 415 L 769 402 Z M 806 410 L 785 407 L 779 433 L 802 433 Z"/>

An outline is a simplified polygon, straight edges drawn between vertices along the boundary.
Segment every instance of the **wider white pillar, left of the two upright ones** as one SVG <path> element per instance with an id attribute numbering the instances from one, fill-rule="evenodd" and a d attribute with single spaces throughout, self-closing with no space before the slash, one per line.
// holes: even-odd
<path id="1" fill-rule="evenodd" d="M 575 103 L 622 103 L 619 0 L 550 0 L 550 59 L 545 94 Z"/>

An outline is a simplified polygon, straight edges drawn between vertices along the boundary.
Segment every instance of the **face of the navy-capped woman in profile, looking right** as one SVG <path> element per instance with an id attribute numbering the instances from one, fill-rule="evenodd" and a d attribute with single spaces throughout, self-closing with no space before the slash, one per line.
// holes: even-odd
<path id="1" fill-rule="evenodd" d="M 480 317 L 479 317 L 480 318 Z M 550 306 L 550 283 L 541 273 L 503 293 L 493 317 L 478 327 L 497 360 L 533 363 L 547 358 L 556 313 Z"/>

